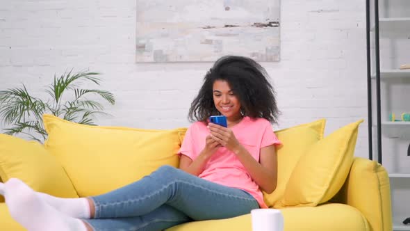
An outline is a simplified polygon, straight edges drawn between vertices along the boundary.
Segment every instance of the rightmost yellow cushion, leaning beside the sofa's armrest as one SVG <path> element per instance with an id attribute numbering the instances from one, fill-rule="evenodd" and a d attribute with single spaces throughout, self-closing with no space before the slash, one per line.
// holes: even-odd
<path id="1" fill-rule="evenodd" d="M 352 165 L 359 120 L 315 143 L 297 162 L 275 207 L 316 206 L 341 189 Z"/>

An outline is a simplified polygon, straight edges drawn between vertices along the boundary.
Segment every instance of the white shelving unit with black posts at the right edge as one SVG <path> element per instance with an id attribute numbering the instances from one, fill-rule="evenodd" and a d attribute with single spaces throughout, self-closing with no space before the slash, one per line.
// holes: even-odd
<path id="1" fill-rule="evenodd" d="M 368 83 L 372 87 L 374 110 L 371 126 L 372 156 L 382 152 L 382 160 L 379 161 L 387 166 L 391 182 L 393 231 L 410 231 L 410 224 L 403 224 L 404 219 L 410 217 L 410 157 L 407 156 L 410 122 L 388 121 L 388 115 L 392 112 L 396 113 L 398 120 L 401 119 L 400 113 L 410 112 L 410 70 L 399 69 L 401 64 L 410 64 L 410 1 L 380 0 L 378 10 L 375 10 L 375 2 L 378 1 L 370 1 L 370 4 L 373 3 L 370 6 L 370 18 L 373 21 L 370 26 L 370 47 L 373 52 L 368 60 L 371 67 L 368 73 L 372 73 Z M 375 17 L 376 13 L 378 19 Z M 378 31 L 375 22 L 378 22 Z M 377 67 L 379 81 L 376 78 Z M 377 97 L 375 91 L 378 91 Z M 379 102 L 377 98 L 380 99 Z M 382 120 L 379 127 L 381 137 L 379 130 L 376 132 L 378 128 L 375 125 L 379 115 Z M 381 148 L 378 141 L 382 142 Z"/>

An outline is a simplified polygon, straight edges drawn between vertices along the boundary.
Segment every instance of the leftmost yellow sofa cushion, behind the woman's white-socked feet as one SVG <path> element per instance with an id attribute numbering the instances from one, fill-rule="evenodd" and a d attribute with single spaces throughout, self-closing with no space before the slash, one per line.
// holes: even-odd
<path id="1" fill-rule="evenodd" d="M 63 167 L 35 141 L 0 134 L 0 177 L 19 178 L 35 191 L 63 198 L 78 198 Z"/>

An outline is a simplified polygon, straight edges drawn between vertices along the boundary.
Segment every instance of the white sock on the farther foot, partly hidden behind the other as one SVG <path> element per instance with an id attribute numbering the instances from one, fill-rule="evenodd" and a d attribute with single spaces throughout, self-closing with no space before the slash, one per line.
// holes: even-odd
<path id="1" fill-rule="evenodd" d="M 90 218 L 90 205 L 86 198 L 56 198 L 46 193 L 36 193 L 44 202 L 74 218 Z"/>

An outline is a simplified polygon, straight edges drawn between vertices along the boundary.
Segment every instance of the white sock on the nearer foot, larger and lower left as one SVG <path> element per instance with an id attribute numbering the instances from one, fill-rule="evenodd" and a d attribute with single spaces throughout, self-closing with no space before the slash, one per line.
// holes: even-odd
<path id="1" fill-rule="evenodd" d="M 83 221 L 58 212 L 21 180 L 12 178 L 5 185 L 8 211 L 28 231 L 87 231 Z"/>

